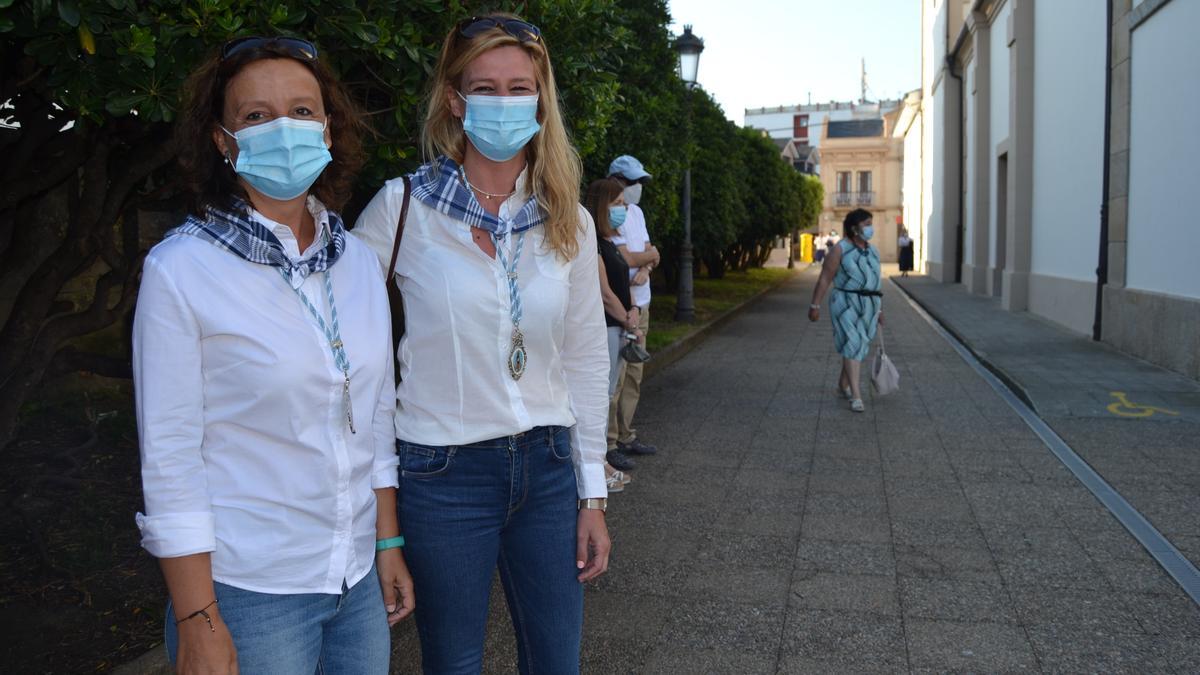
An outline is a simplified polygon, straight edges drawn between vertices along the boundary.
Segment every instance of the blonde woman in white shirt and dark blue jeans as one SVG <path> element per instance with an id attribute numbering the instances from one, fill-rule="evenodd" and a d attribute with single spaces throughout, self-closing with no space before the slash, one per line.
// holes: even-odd
<path id="1" fill-rule="evenodd" d="M 608 566 L 608 353 L 595 226 L 541 31 L 472 17 L 442 44 L 395 280 L 400 522 L 426 673 L 479 673 L 499 566 L 522 673 L 577 673 Z M 389 181 L 355 234 L 385 269 Z"/>

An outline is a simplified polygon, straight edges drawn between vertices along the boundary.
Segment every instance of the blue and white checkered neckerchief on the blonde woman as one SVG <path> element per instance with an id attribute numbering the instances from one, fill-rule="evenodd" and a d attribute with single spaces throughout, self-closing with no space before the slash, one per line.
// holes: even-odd
<path id="1" fill-rule="evenodd" d="M 485 211 L 475 199 L 475 195 L 458 177 L 458 163 L 445 155 L 416 169 L 413 174 L 413 198 L 440 214 L 485 229 L 498 239 L 503 239 L 510 232 L 524 232 L 538 227 L 545 221 L 545 213 L 538 205 L 538 197 L 532 191 L 529 199 L 510 220 L 500 220 Z"/>

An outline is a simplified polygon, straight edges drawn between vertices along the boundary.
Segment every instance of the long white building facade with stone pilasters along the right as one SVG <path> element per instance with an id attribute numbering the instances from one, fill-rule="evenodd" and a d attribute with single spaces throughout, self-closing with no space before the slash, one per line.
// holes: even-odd
<path id="1" fill-rule="evenodd" d="M 929 274 L 1200 377 L 1200 231 L 1175 207 L 1200 178 L 1200 2 L 922 7 L 902 136 L 929 185 L 904 209 Z"/>

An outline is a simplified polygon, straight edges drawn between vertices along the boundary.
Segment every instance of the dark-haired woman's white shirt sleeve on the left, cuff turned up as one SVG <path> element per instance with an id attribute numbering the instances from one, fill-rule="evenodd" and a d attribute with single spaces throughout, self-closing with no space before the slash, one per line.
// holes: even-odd
<path id="1" fill-rule="evenodd" d="M 133 321 L 133 392 L 145 496 L 145 513 L 137 514 L 142 545 L 156 557 L 215 550 L 200 454 L 200 327 L 154 253 L 145 261 Z"/>

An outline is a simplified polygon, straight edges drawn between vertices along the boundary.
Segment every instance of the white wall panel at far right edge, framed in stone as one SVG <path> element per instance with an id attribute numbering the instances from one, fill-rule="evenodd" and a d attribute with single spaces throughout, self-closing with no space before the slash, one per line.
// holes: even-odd
<path id="1" fill-rule="evenodd" d="M 1174 0 L 1133 31 L 1126 286 L 1200 299 L 1200 2 Z M 1190 64 L 1190 65 L 1189 65 Z M 1181 77 L 1181 73 L 1190 74 Z"/>

